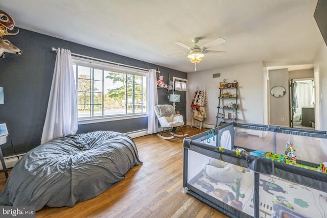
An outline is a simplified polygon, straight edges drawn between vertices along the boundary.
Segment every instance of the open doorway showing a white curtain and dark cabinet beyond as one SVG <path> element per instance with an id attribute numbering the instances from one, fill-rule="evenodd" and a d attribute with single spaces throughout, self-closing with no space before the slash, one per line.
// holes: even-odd
<path id="1" fill-rule="evenodd" d="M 290 80 L 290 127 L 315 129 L 314 78 Z"/>

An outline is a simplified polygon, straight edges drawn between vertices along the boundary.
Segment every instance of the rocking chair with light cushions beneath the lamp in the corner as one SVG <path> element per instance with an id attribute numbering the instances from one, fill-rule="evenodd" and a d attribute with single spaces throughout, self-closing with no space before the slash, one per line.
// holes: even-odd
<path id="1" fill-rule="evenodd" d="M 162 127 L 161 134 L 157 134 L 160 138 L 172 139 L 174 136 L 183 137 L 188 135 L 184 134 L 183 130 L 181 129 L 181 126 L 184 125 L 183 116 L 176 114 L 175 108 L 172 105 L 156 105 L 154 106 L 154 112 L 158 117 L 160 126 Z M 177 128 L 179 128 L 179 130 L 182 132 L 182 135 L 175 133 Z M 169 131 L 169 136 L 163 136 L 162 134 L 167 131 Z"/>

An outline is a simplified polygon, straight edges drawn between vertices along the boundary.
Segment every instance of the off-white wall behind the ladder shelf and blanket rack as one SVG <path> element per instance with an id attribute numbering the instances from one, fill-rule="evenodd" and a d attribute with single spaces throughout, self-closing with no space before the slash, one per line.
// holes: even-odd
<path id="1" fill-rule="evenodd" d="M 264 83 L 262 61 L 221 67 L 215 70 L 191 72 L 188 74 L 188 102 L 191 104 L 196 87 L 203 90 L 206 86 L 208 105 L 205 107 L 207 118 L 204 126 L 216 125 L 219 83 L 226 79 L 231 83 L 239 82 L 238 121 L 242 123 L 264 124 Z M 214 74 L 220 78 L 213 78 Z M 186 107 L 188 125 L 192 121 L 192 110 Z"/>

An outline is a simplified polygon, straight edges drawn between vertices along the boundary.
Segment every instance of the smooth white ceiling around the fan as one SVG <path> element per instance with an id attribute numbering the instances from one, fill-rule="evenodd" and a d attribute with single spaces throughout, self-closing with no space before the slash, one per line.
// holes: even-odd
<path id="1" fill-rule="evenodd" d="M 311 64 L 323 43 L 317 0 L 10 0 L 0 9 L 16 27 L 184 72 L 194 71 L 174 42 L 198 45 L 222 37 L 197 70 L 267 61 Z M 19 34 L 17 35 L 19 37 Z M 51 45 L 49 45 L 49 50 Z M 74 53 L 74 51 L 72 51 Z"/>

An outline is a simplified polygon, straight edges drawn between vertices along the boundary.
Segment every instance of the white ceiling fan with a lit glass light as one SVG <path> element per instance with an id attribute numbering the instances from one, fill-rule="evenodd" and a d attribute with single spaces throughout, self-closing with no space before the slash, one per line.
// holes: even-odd
<path id="1" fill-rule="evenodd" d="M 219 44 L 226 42 L 225 39 L 223 39 L 223 38 L 215 39 L 214 41 L 204 44 L 202 47 L 197 45 L 199 40 L 200 40 L 200 38 L 194 38 L 192 40 L 192 42 L 195 43 L 195 45 L 193 47 L 191 47 L 190 45 L 187 45 L 183 42 L 174 42 L 175 44 L 189 50 L 188 53 L 179 53 L 179 54 L 188 54 L 188 58 L 189 58 L 190 62 L 195 63 L 195 70 L 196 70 L 196 63 L 201 62 L 202 58 L 204 57 L 204 54 L 223 55 L 225 53 L 225 52 L 221 52 L 221 51 L 208 50 L 211 47 L 214 47 L 214 46 L 217 46 Z M 179 54 L 173 54 L 173 55 L 179 55 Z"/>

